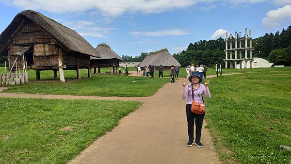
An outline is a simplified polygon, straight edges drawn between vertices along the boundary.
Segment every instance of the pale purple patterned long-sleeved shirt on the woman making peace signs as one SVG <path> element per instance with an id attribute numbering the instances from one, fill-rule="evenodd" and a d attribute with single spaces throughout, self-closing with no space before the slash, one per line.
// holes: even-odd
<path id="1" fill-rule="evenodd" d="M 200 84 L 196 90 L 194 89 L 194 101 L 203 103 L 202 94 L 204 94 L 206 98 L 211 97 L 209 88 L 203 84 Z M 191 84 L 188 84 L 186 87 L 183 87 L 182 89 L 182 99 L 186 98 L 187 98 L 186 104 L 192 104 Z"/>

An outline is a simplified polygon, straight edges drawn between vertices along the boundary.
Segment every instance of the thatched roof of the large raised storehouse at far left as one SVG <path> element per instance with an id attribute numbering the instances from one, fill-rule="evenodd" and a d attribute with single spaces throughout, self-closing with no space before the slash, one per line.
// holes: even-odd
<path id="1" fill-rule="evenodd" d="M 100 57 L 98 52 L 81 35 L 49 17 L 32 10 L 26 10 L 17 14 L 9 26 L 0 34 L 0 54 L 7 50 L 7 47 L 4 47 L 5 44 L 25 18 L 48 33 L 65 51 Z"/>

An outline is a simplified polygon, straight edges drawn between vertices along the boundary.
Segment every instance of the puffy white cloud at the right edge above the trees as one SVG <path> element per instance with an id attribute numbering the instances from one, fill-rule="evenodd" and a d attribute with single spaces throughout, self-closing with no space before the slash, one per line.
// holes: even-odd
<path id="1" fill-rule="evenodd" d="M 278 28 L 280 23 L 285 20 L 291 20 L 291 5 L 286 5 L 276 10 L 271 10 L 267 14 L 267 17 L 262 19 L 262 25 L 266 28 Z"/>

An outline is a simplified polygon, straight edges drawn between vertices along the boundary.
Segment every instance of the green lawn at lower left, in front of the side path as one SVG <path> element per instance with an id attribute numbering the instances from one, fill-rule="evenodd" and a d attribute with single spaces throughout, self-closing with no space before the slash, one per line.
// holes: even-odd
<path id="1" fill-rule="evenodd" d="M 0 163 L 64 164 L 141 104 L 0 98 Z"/>

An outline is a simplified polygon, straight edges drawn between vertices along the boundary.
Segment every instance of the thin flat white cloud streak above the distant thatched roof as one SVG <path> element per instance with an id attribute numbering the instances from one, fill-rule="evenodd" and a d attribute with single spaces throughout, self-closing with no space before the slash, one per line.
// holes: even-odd
<path id="1" fill-rule="evenodd" d="M 129 32 L 132 36 L 166 36 L 166 35 L 186 35 L 189 34 L 187 30 L 183 29 L 164 29 L 161 31 L 153 31 L 153 32 Z"/>

